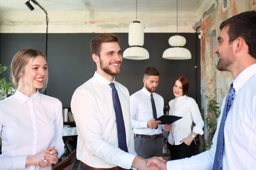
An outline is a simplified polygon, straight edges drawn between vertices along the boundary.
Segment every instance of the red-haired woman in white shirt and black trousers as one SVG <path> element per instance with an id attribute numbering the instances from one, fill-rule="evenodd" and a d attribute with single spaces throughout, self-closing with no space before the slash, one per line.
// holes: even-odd
<path id="1" fill-rule="evenodd" d="M 173 123 L 168 136 L 168 148 L 171 160 L 182 159 L 195 155 L 195 140 L 202 135 L 204 121 L 202 120 L 198 105 L 191 97 L 186 96 L 189 91 L 189 79 L 179 76 L 173 83 L 175 99 L 169 102 L 169 115 L 180 116 L 182 119 Z M 192 126 L 192 124 L 195 126 Z"/>

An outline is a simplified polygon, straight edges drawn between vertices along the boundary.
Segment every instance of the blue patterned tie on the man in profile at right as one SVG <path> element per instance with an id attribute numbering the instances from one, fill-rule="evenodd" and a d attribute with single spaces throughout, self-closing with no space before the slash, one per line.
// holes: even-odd
<path id="1" fill-rule="evenodd" d="M 220 121 L 220 128 L 218 132 L 218 139 L 217 139 L 217 146 L 216 146 L 216 152 L 214 157 L 214 163 L 213 163 L 213 170 L 221 170 L 222 169 L 222 156 L 223 156 L 223 150 L 224 150 L 224 127 L 225 122 L 227 119 L 227 114 L 229 113 L 229 109 L 232 106 L 233 100 L 235 98 L 235 89 L 233 87 L 233 82 L 231 83 L 229 94 L 226 97 L 224 110 L 222 113 L 222 118 Z"/>

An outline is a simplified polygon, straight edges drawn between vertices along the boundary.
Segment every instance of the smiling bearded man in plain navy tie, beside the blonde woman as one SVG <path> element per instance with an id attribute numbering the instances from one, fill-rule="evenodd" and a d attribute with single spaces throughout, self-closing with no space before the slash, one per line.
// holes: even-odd
<path id="1" fill-rule="evenodd" d="M 77 159 L 81 161 L 78 170 L 144 170 L 146 160 L 134 150 L 129 92 L 115 81 L 123 60 L 118 37 L 97 35 L 90 49 L 97 71 L 76 89 L 71 101 L 78 132 Z"/>

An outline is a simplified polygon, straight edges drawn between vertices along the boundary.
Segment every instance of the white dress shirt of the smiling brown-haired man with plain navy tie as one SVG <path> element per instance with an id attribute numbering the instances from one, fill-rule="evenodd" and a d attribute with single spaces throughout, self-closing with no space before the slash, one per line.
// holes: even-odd
<path id="1" fill-rule="evenodd" d="M 91 79 L 74 92 L 71 110 L 78 132 L 77 159 L 94 168 L 120 166 L 130 169 L 136 153 L 130 124 L 129 92 L 114 79 L 113 83 L 118 92 L 124 117 L 129 151 L 127 153 L 118 148 L 117 124 L 110 83 L 95 72 Z"/>

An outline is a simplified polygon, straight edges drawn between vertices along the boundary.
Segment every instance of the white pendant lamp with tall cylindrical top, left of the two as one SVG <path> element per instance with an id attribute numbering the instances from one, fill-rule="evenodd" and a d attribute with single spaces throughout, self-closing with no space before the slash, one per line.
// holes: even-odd
<path id="1" fill-rule="evenodd" d="M 145 60 L 149 53 L 142 46 L 144 44 L 144 26 L 137 21 L 137 0 L 136 0 L 136 21 L 129 25 L 128 44 L 130 47 L 123 53 L 123 57 L 131 60 Z"/>

